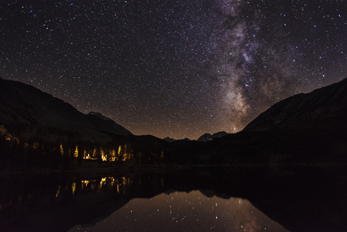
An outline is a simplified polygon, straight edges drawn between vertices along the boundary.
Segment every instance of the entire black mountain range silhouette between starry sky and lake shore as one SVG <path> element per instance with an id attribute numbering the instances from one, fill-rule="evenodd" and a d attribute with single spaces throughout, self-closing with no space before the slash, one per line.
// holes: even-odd
<path id="1" fill-rule="evenodd" d="M 127 144 L 134 160 L 181 165 L 347 162 L 347 79 L 278 102 L 239 133 L 205 134 L 192 141 L 131 135 L 100 113 L 84 115 L 16 81 L 0 80 L 0 106 L 0 125 L 8 134 L 28 144 L 46 142 L 45 148 L 47 141 L 54 149 L 62 144 L 71 151 L 78 144 L 92 153 L 95 147 L 125 150 Z"/>

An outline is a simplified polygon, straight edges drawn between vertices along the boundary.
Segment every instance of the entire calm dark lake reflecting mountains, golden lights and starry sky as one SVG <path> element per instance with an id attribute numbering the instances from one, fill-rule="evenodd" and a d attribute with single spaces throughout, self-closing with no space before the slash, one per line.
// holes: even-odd
<path id="1" fill-rule="evenodd" d="M 0 231 L 347 231 L 345 167 L 200 167 L 0 181 Z"/>

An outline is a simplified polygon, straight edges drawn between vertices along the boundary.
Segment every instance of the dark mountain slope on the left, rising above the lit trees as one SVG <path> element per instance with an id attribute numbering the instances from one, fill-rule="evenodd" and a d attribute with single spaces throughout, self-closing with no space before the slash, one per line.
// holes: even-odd
<path id="1" fill-rule="evenodd" d="M 112 134 L 131 135 L 123 126 L 100 113 L 85 115 L 69 103 L 31 85 L 2 78 L 0 124 L 12 130 L 12 135 L 18 138 L 28 139 L 35 135 L 50 142 L 59 138 L 108 142 L 112 140 Z"/>

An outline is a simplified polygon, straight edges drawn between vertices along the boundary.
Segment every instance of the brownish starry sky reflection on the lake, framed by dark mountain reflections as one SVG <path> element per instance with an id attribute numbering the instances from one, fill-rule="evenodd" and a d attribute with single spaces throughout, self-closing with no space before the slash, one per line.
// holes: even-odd
<path id="1" fill-rule="evenodd" d="M 206 197 L 198 190 L 132 199 L 94 226 L 73 231 L 287 231 L 248 200 Z"/>

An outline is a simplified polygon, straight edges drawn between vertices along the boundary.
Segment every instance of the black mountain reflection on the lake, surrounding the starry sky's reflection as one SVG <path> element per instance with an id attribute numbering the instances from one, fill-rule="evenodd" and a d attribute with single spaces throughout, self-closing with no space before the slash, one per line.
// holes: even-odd
<path id="1" fill-rule="evenodd" d="M 80 224 L 91 226 L 115 210 L 124 210 L 132 199 L 151 199 L 161 193 L 174 197 L 174 190 L 201 190 L 201 196 L 209 199 L 247 199 L 289 231 L 347 231 L 346 193 L 339 190 L 347 184 L 344 167 L 281 168 L 217 167 L 93 179 L 79 174 L 1 179 L 0 231 L 67 231 Z"/>

